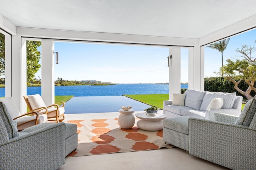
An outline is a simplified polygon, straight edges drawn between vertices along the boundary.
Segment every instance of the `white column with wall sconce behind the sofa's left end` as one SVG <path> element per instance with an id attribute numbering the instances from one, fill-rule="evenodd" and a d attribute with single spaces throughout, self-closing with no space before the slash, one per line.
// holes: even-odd
<path id="1" fill-rule="evenodd" d="M 172 100 L 172 93 L 180 93 L 180 47 L 170 47 L 169 55 L 169 100 Z"/>

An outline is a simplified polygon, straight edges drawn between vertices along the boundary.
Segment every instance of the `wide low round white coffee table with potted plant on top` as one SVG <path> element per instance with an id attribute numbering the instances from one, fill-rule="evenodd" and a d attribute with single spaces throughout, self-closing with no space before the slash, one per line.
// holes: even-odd
<path id="1" fill-rule="evenodd" d="M 136 117 L 140 118 L 137 122 L 138 128 L 145 131 L 160 131 L 163 129 L 163 121 L 167 115 L 156 113 L 155 115 L 147 115 L 146 113 L 137 113 Z"/>

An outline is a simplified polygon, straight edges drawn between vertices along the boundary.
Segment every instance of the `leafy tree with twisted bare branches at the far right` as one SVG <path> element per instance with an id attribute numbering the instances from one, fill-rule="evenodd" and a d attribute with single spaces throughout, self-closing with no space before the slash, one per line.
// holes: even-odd
<path id="1" fill-rule="evenodd" d="M 254 97 L 250 95 L 252 90 L 256 92 L 256 88 L 254 87 L 256 81 L 256 57 L 252 57 L 254 51 L 256 51 L 254 46 L 243 45 L 241 49 L 236 50 L 240 54 L 239 57 L 242 57 L 242 60 L 238 58 L 235 61 L 228 59 L 227 64 L 220 69 L 224 73 L 225 78 L 234 83 L 234 89 L 244 95 L 248 100 L 256 98 L 256 95 Z M 246 91 L 238 87 L 242 80 L 248 84 Z"/>

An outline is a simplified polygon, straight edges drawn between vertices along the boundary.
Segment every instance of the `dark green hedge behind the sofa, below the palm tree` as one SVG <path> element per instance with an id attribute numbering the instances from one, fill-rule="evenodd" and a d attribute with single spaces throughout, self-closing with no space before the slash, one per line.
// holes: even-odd
<path id="1" fill-rule="evenodd" d="M 235 79 L 236 80 L 236 79 Z M 238 80 L 236 80 L 238 81 Z M 244 82 L 242 80 L 242 82 L 240 82 L 238 84 L 238 87 L 242 90 L 242 91 L 246 91 L 248 88 L 248 84 L 246 82 Z M 254 84 L 254 87 L 255 84 Z M 223 77 L 210 77 L 210 78 L 204 78 L 204 90 L 210 91 L 210 92 L 236 92 L 236 95 L 238 96 L 243 96 L 242 94 L 240 94 L 239 92 L 237 92 L 234 89 L 234 83 L 226 80 Z M 252 92 L 250 93 L 250 95 L 253 97 L 255 96 L 256 92 L 254 92 L 252 90 Z M 245 96 L 243 96 L 244 99 L 246 99 Z"/>

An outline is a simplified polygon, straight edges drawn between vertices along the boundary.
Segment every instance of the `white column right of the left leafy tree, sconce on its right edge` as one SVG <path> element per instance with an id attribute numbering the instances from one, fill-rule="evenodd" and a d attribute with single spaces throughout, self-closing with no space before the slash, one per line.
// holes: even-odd
<path id="1" fill-rule="evenodd" d="M 49 106 L 54 104 L 54 41 L 42 39 L 42 98 Z"/>

